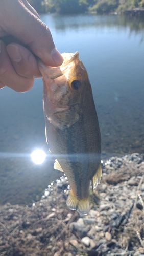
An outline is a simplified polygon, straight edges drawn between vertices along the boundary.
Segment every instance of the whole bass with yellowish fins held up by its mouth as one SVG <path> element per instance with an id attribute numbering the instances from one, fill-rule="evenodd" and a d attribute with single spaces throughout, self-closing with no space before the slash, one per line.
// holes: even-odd
<path id="1" fill-rule="evenodd" d="M 54 169 L 64 172 L 70 188 L 66 201 L 80 215 L 89 212 L 89 187 L 100 183 L 101 133 L 86 68 L 79 53 L 63 53 L 60 67 L 39 61 L 43 76 L 43 112 Z"/>

